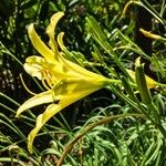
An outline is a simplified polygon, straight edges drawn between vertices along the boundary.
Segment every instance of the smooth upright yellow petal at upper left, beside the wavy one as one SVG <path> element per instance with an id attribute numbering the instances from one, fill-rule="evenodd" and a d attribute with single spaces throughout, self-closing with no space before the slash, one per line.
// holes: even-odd
<path id="1" fill-rule="evenodd" d="M 43 43 L 40 37 L 37 34 L 34 30 L 33 23 L 31 23 L 28 28 L 29 38 L 35 48 L 35 50 L 45 58 L 48 62 L 54 61 L 54 53 Z"/>

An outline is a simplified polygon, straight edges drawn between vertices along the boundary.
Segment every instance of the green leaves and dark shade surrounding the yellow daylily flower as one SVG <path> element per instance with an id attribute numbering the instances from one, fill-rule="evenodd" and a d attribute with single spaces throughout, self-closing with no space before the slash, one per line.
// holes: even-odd
<path id="1" fill-rule="evenodd" d="M 139 17 L 139 10 L 149 17 Z M 46 42 L 45 27 L 58 11 L 65 13 L 58 31 L 65 32 L 72 61 L 118 79 L 123 86 L 107 86 L 54 116 L 38 135 L 30 155 L 27 136 L 44 106 L 14 117 L 30 97 L 20 74 L 30 90 L 42 91 L 22 68 L 25 58 L 35 53 L 27 27 L 35 22 Z M 165 0 L 1 0 L 0 17 L 0 165 L 53 166 L 62 156 L 64 166 L 166 165 Z M 158 38 L 145 37 L 139 28 Z M 144 68 L 135 66 L 138 56 Z M 126 69 L 135 69 L 136 82 Z M 149 90 L 144 73 L 159 84 Z"/>

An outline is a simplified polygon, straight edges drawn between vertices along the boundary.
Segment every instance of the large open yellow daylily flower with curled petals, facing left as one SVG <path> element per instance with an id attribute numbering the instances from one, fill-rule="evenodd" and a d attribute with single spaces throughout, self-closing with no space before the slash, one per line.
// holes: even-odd
<path id="1" fill-rule="evenodd" d="M 29 56 L 25 60 L 24 70 L 30 75 L 41 80 L 46 91 L 24 102 L 17 111 L 17 117 L 28 108 L 50 103 L 45 112 L 37 117 L 35 127 L 28 136 L 28 149 L 30 153 L 33 152 L 32 144 L 38 132 L 53 115 L 84 96 L 117 82 L 81 68 L 66 60 L 65 54 L 59 51 L 59 46 L 64 48 L 63 32 L 58 35 L 56 42 L 54 40 L 54 29 L 62 17 L 63 12 L 58 12 L 51 18 L 46 29 L 50 38 L 49 46 L 41 41 L 33 24 L 30 24 L 28 29 L 33 46 L 42 56 Z"/>

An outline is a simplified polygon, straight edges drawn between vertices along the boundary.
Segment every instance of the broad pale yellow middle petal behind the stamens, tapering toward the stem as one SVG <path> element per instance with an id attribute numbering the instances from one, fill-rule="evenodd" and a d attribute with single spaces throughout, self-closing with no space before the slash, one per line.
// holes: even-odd
<path id="1" fill-rule="evenodd" d="M 51 74 L 52 82 L 56 82 L 66 77 L 103 77 L 102 75 L 95 74 L 80 65 L 65 60 L 60 55 L 60 61 L 54 63 L 46 62 L 45 59 L 40 56 L 29 56 L 24 64 L 24 70 L 32 76 L 37 76 L 42 80 L 42 72 L 49 71 Z"/>

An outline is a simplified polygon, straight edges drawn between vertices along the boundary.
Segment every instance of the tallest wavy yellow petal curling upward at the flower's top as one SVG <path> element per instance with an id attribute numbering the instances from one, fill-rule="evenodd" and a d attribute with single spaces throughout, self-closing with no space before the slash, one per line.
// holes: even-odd
<path id="1" fill-rule="evenodd" d="M 58 12 L 55 14 L 53 14 L 51 17 L 51 20 L 50 20 L 50 24 L 49 27 L 46 28 L 46 33 L 50 37 L 50 41 L 49 41 L 49 45 L 51 46 L 51 49 L 53 50 L 53 52 L 55 53 L 55 55 L 58 54 L 58 45 L 56 45 L 56 42 L 54 40 L 54 29 L 59 22 L 59 20 L 64 15 L 63 12 Z"/>

